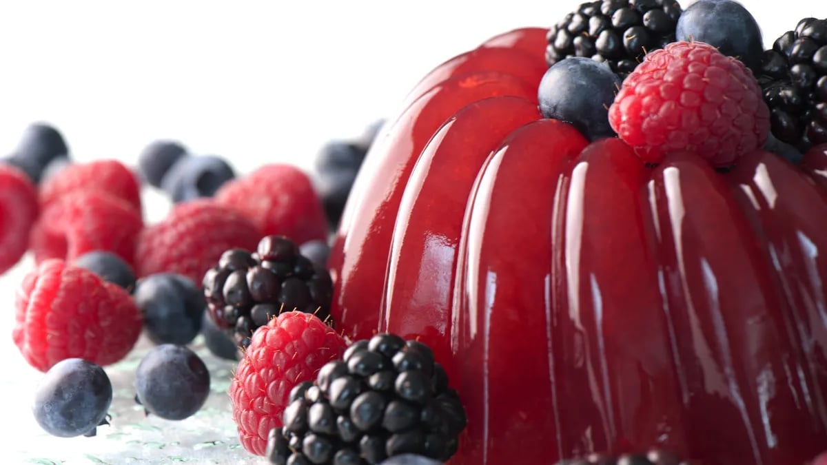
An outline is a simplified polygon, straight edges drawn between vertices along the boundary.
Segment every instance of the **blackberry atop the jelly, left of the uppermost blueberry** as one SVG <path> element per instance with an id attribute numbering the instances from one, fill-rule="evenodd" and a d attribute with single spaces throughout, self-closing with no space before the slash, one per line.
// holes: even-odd
<path id="1" fill-rule="evenodd" d="M 675 0 L 581 3 L 548 31 L 549 66 L 572 56 L 605 61 L 625 79 L 651 50 L 675 41 L 681 5 Z"/>

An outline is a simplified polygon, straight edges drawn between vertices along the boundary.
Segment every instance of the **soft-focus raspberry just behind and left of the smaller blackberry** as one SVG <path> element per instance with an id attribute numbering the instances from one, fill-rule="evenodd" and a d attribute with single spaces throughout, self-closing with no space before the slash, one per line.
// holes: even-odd
<path id="1" fill-rule="evenodd" d="M 178 273 L 199 283 L 224 251 L 253 250 L 258 240 L 256 226 L 236 209 L 207 199 L 184 202 L 141 232 L 136 271 L 138 276 Z"/>

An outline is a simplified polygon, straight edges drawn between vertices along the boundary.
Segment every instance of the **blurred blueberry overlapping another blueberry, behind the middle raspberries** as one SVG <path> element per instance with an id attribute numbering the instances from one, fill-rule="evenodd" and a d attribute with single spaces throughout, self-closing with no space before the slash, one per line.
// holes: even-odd
<path id="1" fill-rule="evenodd" d="M 172 165 L 161 180 L 161 189 L 178 203 L 212 197 L 218 188 L 235 177 L 232 166 L 219 156 L 187 156 Z"/>

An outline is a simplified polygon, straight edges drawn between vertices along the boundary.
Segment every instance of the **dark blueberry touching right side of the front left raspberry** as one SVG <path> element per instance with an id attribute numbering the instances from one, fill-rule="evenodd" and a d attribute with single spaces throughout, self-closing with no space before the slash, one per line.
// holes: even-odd
<path id="1" fill-rule="evenodd" d="M 138 282 L 135 304 L 144 317 L 146 335 L 156 344 L 187 344 L 201 331 L 206 303 L 203 292 L 184 276 L 158 273 Z"/>

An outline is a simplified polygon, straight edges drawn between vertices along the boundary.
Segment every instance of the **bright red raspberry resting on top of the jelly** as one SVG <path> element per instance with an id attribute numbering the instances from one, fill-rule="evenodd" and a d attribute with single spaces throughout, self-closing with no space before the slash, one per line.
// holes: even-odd
<path id="1" fill-rule="evenodd" d="M 714 166 L 762 146 L 770 128 L 752 72 L 703 42 L 646 55 L 614 98 L 609 123 L 643 161 L 692 151 Z"/>

